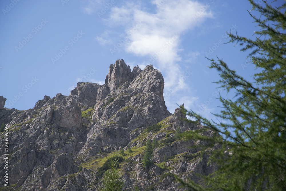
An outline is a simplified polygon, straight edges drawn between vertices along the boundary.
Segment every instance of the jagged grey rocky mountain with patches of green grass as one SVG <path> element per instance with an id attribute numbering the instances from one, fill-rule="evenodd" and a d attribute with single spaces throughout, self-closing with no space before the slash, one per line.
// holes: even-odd
<path id="1" fill-rule="evenodd" d="M 207 165 L 208 155 L 200 160 L 196 155 L 200 151 L 190 147 L 204 143 L 175 136 L 178 129 L 203 126 L 183 121 L 186 116 L 180 108 L 172 115 L 163 90 L 163 76 L 152 65 L 131 71 L 124 60 L 116 60 L 104 85 L 79 82 L 69 96 L 45 96 L 33 109 L 3 108 L 6 99 L 0 97 L 0 122 L 10 127 L 10 189 L 99 190 L 99 168 L 117 155 L 124 158 L 120 172 L 125 190 L 134 190 L 136 185 L 140 190 L 180 190 L 174 175 L 198 182 L 195 173 L 212 173 L 217 167 Z M 147 131 L 155 124 L 157 129 Z M 208 135 L 214 136 L 211 131 Z M 149 168 L 142 163 L 147 139 L 158 141 Z M 4 161 L 3 139 L 0 147 Z M 4 175 L 1 168 L 0 176 Z"/>

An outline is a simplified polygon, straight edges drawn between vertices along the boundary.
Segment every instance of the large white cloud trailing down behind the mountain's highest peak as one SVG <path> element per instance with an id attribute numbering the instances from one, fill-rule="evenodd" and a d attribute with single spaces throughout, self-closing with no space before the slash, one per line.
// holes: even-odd
<path id="1" fill-rule="evenodd" d="M 194 96 L 190 85 L 186 83 L 192 72 L 182 69 L 178 63 L 182 60 L 193 63 L 199 53 L 183 53 L 186 58 L 182 59 L 180 53 L 184 50 L 181 36 L 200 26 L 207 18 L 212 18 L 212 12 L 208 8 L 203 9 L 203 4 L 191 0 L 152 0 L 151 3 L 156 5 L 152 13 L 150 7 L 142 7 L 140 1 L 137 4 L 124 3 L 121 7 L 113 6 L 108 19 L 104 19 L 110 27 L 125 30 L 124 36 L 128 40 L 122 49 L 146 58 L 138 64 L 142 70 L 152 64 L 162 72 L 165 81 L 164 99 L 170 112 L 177 107 L 176 103 L 184 103 L 187 109 L 196 107 L 198 97 Z M 120 39 L 123 39 L 122 36 Z M 97 40 L 102 44 L 108 43 L 103 36 Z M 178 98 L 178 94 L 184 96 Z"/>

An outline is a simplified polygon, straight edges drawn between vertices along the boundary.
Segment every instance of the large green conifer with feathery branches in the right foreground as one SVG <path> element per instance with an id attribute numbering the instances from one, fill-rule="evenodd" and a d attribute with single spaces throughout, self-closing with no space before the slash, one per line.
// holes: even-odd
<path id="1" fill-rule="evenodd" d="M 235 91 L 235 97 L 220 97 L 224 109 L 215 114 L 219 122 L 188 112 L 206 128 L 189 131 L 184 136 L 220 145 L 211 151 L 209 158 L 218 165 L 218 170 L 203 176 L 203 184 L 211 187 L 178 179 L 190 190 L 274 191 L 286 188 L 286 3 L 281 1 L 281 6 L 276 3 L 274 7 L 266 1 L 261 4 L 249 1 L 253 7 L 251 17 L 260 29 L 255 32 L 255 38 L 236 33 L 229 37 L 230 42 L 244 46 L 242 51 L 251 51 L 250 62 L 258 70 L 249 81 L 231 70 L 222 59 L 217 62 L 211 59 L 210 68 L 218 70 L 221 77 L 217 83 L 227 92 Z M 215 135 L 207 137 L 203 131 L 209 130 Z"/>

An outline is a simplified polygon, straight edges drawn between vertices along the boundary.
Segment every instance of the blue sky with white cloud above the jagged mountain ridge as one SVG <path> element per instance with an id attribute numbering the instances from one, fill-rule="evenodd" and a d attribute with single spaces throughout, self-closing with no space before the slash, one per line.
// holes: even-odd
<path id="1" fill-rule="evenodd" d="M 219 75 L 205 56 L 223 58 L 249 80 L 255 72 L 245 67 L 247 52 L 225 44 L 226 31 L 251 37 L 258 30 L 246 0 L 3 0 L 0 8 L 0 96 L 7 108 L 69 95 L 77 82 L 103 84 L 109 65 L 124 59 L 131 68 L 161 71 L 171 113 L 184 103 L 210 119 L 221 110 L 218 93 L 231 94 L 212 83 Z"/>

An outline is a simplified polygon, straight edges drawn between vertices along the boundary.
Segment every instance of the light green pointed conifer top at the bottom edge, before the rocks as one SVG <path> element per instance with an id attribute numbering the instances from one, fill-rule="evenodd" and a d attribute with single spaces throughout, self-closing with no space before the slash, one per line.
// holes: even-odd
<path id="1" fill-rule="evenodd" d="M 118 162 L 119 159 L 111 160 L 111 168 L 104 173 L 102 182 L 102 191 L 121 191 L 124 186 L 124 182 L 119 174 Z"/>

